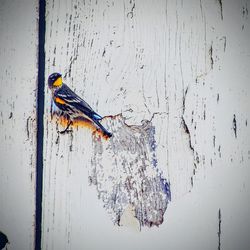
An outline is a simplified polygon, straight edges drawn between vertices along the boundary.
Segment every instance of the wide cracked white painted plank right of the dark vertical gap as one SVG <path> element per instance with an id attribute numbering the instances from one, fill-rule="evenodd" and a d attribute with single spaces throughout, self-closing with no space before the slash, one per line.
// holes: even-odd
<path id="1" fill-rule="evenodd" d="M 43 249 L 249 248 L 248 5 L 47 3 L 46 77 L 61 72 L 98 113 L 112 115 L 102 123 L 114 136 L 82 126 L 58 134 L 45 89 Z M 137 201 L 157 211 L 150 191 L 123 203 L 121 227 L 108 205 L 117 187 L 127 200 L 127 177 L 141 185 L 140 166 L 150 183 L 170 182 L 172 201 L 159 227 L 138 232 Z"/>

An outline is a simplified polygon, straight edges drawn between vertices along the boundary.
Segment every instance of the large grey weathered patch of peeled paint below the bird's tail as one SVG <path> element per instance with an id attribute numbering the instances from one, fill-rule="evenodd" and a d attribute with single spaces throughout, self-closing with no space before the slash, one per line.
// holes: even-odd
<path id="1" fill-rule="evenodd" d="M 151 121 L 128 126 L 121 115 L 115 116 L 112 124 L 110 140 L 93 138 L 89 181 L 96 185 L 114 224 L 119 226 L 126 208 L 132 207 L 140 227 L 159 226 L 171 193 L 169 182 L 157 167 L 155 129 Z"/>

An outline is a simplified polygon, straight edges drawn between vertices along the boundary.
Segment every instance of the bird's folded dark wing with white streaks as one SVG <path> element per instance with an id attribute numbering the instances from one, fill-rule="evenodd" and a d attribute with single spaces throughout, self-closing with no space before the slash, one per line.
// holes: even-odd
<path id="1" fill-rule="evenodd" d="M 100 115 L 98 115 L 88 103 L 86 103 L 81 97 L 79 97 L 74 91 L 72 91 L 66 84 L 55 91 L 54 99 L 58 103 L 65 103 L 77 110 L 80 110 L 84 114 L 88 115 L 90 118 L 95 118 L 97 120 L 102 119 Z"/>

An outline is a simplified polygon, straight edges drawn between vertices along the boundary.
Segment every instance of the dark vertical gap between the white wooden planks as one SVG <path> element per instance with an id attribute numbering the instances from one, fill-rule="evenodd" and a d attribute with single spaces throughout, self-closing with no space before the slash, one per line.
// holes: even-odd
<path id="1" fill-rule="evenodd" d="M 41 249 L 42 236 L 42 190 L 43 190 L 43 116 L 45 74 L 45 5 L 39 0 L 38 21 L 38 80 L 37 80 L 37 152 L 36 152 L 36 215 L 35 250 Z"/>

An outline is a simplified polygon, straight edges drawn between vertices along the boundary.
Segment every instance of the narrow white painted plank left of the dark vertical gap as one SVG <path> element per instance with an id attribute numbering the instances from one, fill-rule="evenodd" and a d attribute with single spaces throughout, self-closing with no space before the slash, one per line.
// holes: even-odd
<path id="1" fill-rule="evenodd" d="M 34 249 L 38 1 L 0 4 L 0 231 Z"/>

